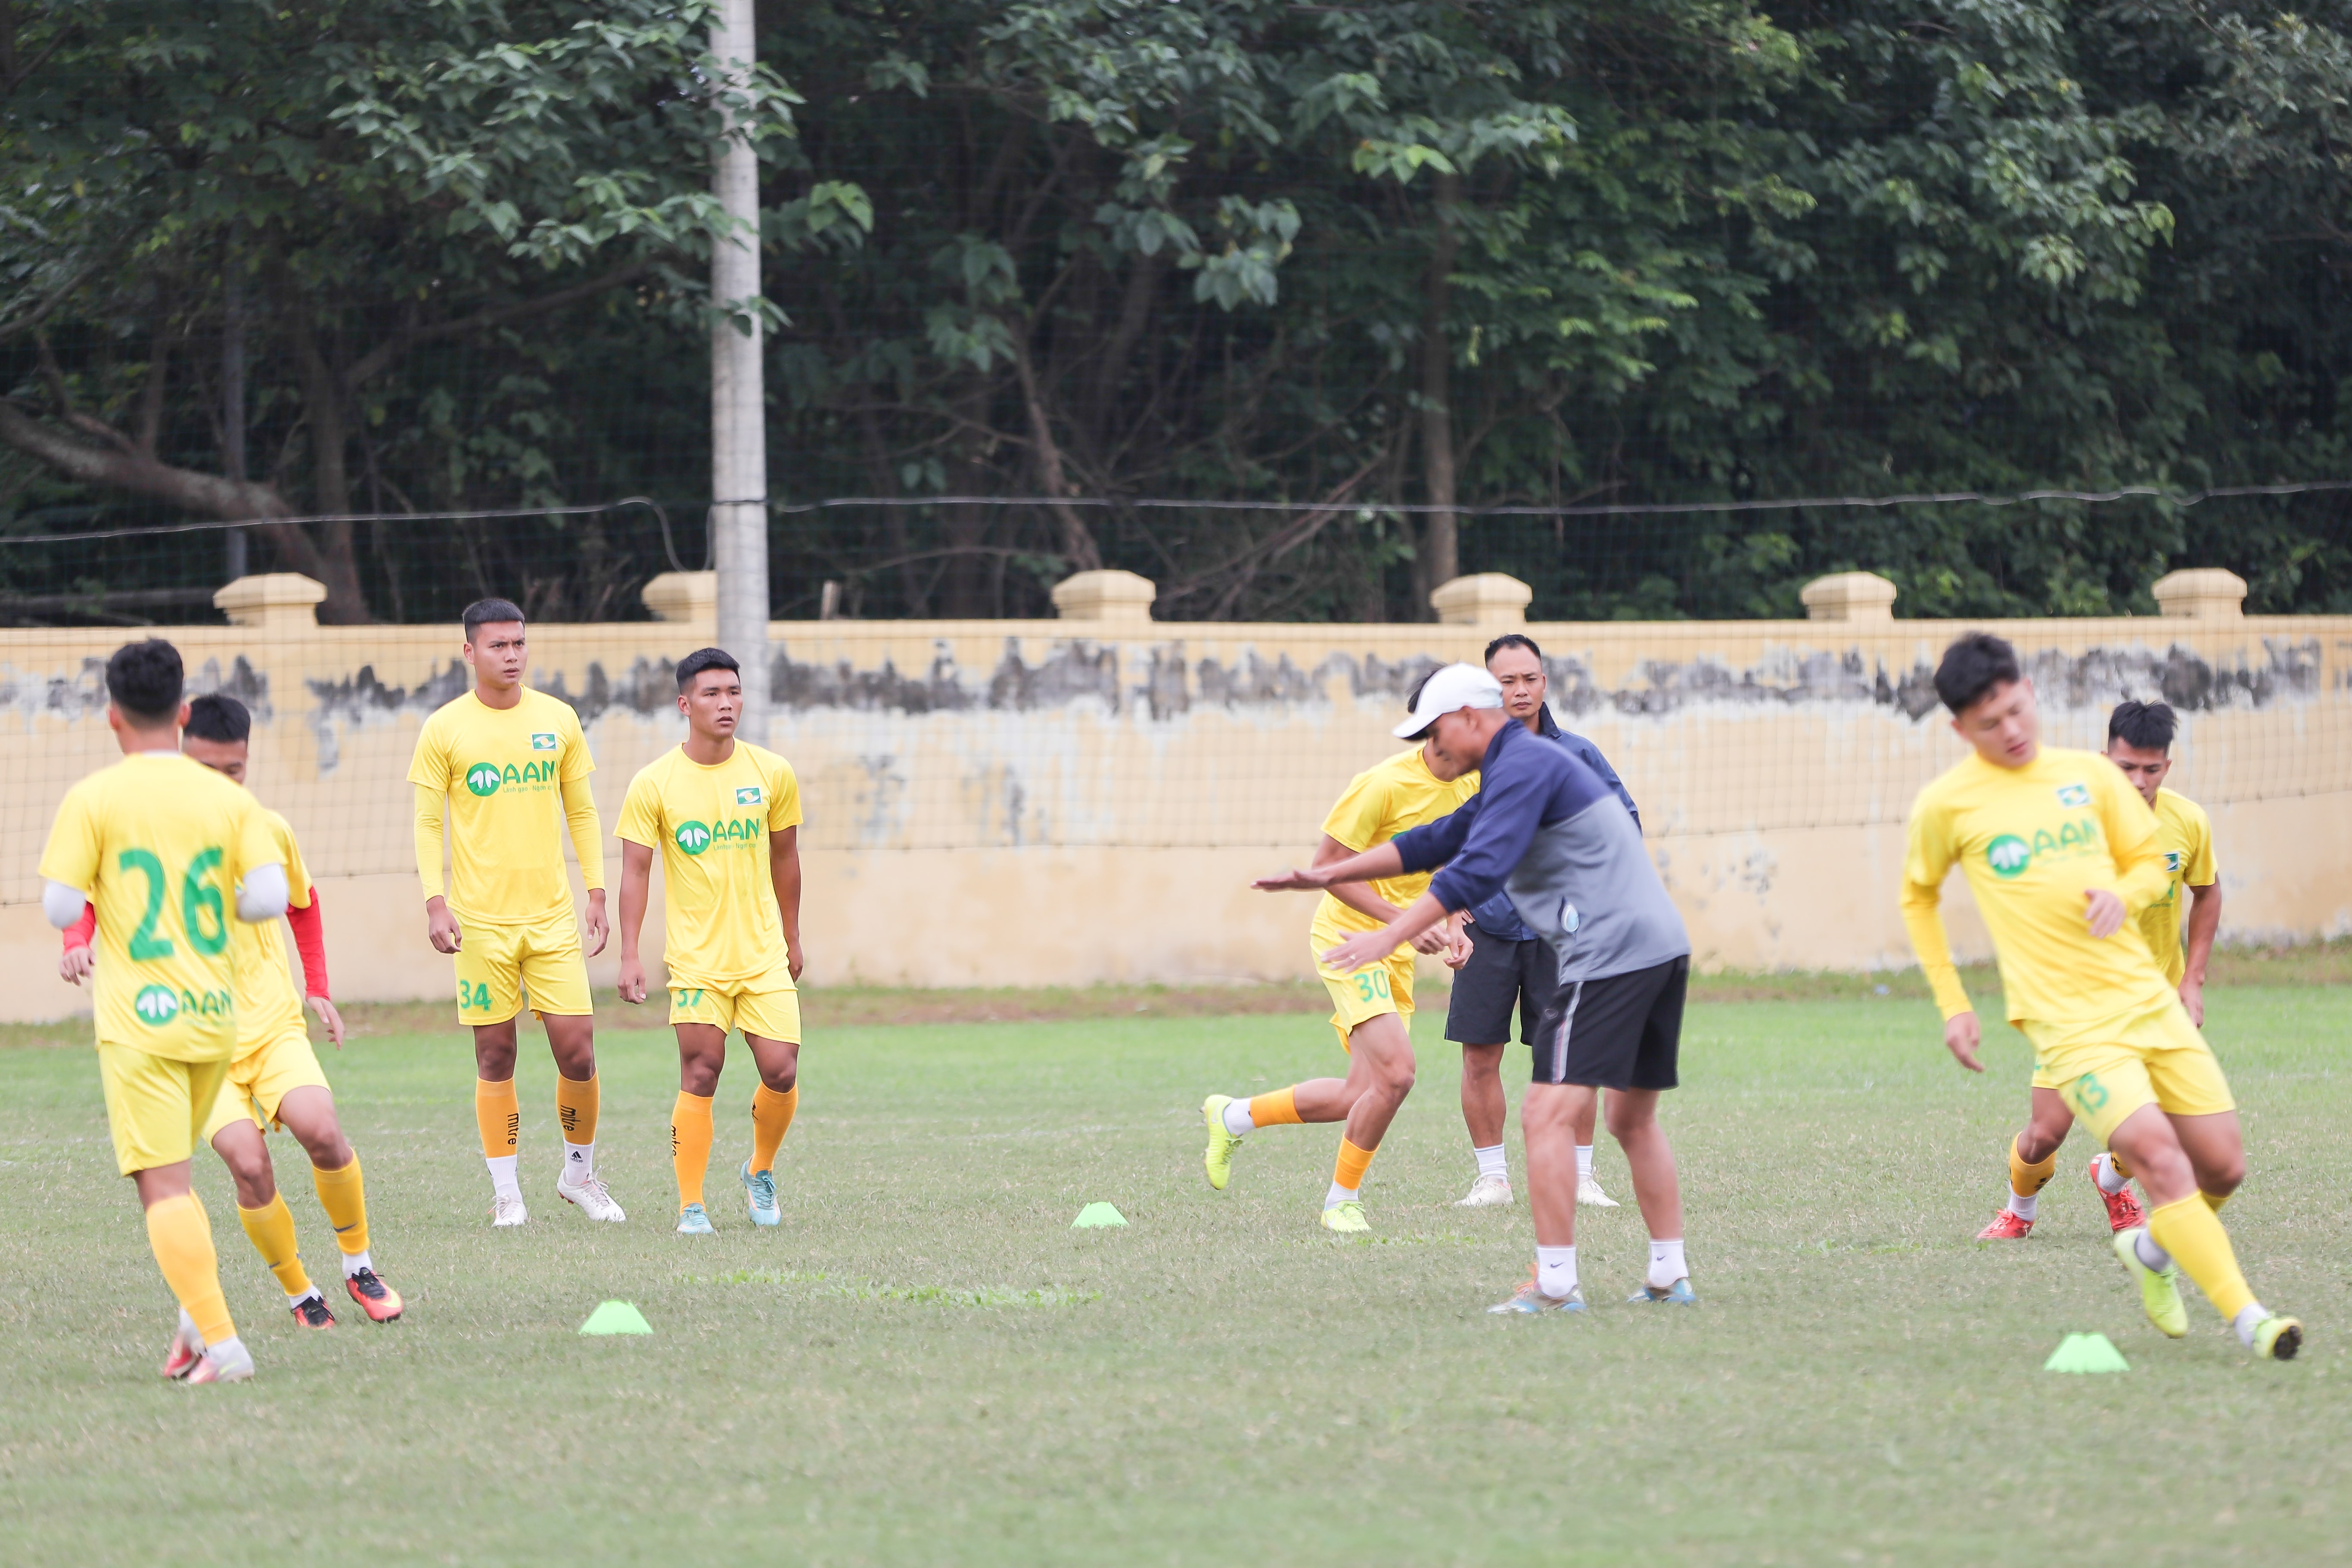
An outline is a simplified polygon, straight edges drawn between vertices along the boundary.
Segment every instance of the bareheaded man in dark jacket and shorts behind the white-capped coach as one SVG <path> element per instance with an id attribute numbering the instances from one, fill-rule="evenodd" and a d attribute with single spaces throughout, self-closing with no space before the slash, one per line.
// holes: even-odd
<path id="1" fill-rule="evenodd" d="M 1552 719 L 1552 710 L 1543 701 L 1548 682 L 1543 649 L 1536 646 L 1536 639 L 1503 632 L 1486 644 L 1486 672 L 1503 686 L 1503 712 L 1526 724 L 1529 733 L 1569 748 L 1571 757 L 1592 769 L 1625 802 L 1625 811 L 1632 811 L 1632 825 L 1639 827 L 1642 813 L 1616 769 L 1602 757 L 1602 748 L 1559 729 Z M 1477 1178 L 1470 1182 L 1470 1197 L 1456 1206 L 1486 1208 L 1510 1201 L 1510 1171 L 1503 1164 L 1503 1121 L 1510 1114 L 1510 1103 L 1503 1098 L 1503 1048 L 1510 1044 L 1510 1013 L 1517 1004 L 1519 1041 L 1531 1044 L 1543 1004 L 1557 990 L 1559 964 L 1510 907 L 1510 893 L 1496 893 L 1477 905 L 1468 922 L 1470 929 L 1463 931 L 1456 947 L 1465 961 L 1454 973 L 1454 994 L 1446 1001 L 1446 1039 L 1463 1048 L 1463 1124 L 1470 1128 Z M 1597 1112 L 1588 1105 L 1583 1121 L 1576 1124 L 1576 1201 L 1588 1208 L 1616 1208 L 1616 1199 L 1592 1180 L 1595 1119 Z"/>

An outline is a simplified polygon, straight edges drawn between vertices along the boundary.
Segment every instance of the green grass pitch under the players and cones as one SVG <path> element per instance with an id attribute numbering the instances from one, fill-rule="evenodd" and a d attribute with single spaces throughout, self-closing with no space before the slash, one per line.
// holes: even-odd
<path id="1" fill-rule="evenodd" d="M 1458 1063 L 1310 1222 L 1336 1131 L 1200 1175 L 1200 1098 L 1334 1070 L 1303 1016 L 835 1027 L 804 1053 L 753 1232 L 720 1088 L 710 1206 L 673 1237 L 666 1034 L 600 1039 L 626 1227 L 553 1194 L 553 1067 L 524 1053 L 524 1232 L 489 1232 L 454 1030 L 327 1053 L 409 1314 L 287 1321 L 198 1182 L 261 1378 L 162 1382 L 172 1321 L 82 1048 L 0 1048 L 0 1559 L 24 1563 L 2209 1563 L 2352 1554 L 2345 987 L 2234 987 L 2209 1034 L 2253 1175 L 2227 1222 L 2310 1326 L 2258 1366 L 2192 1300 L 2166 1342 L 2105 1253 L 2077 1135 L 2023 1244 L 1978 1246 L 2025 1046 L 1962 1074 L 1903 997 L 1693 1004 L 1668 1098 L 1703 1305 L 1628 1307 L 1642 1225 L 1588 1215 L 1595 1312 L 1503 1321 L 1524 1201 L 1456 1211 Z M 1512 1100 L 1524 1079 L 1512 1053 Z M 273 1140 L 303 1258 L 334 1269 Z M 1512 1135 L 1512 1171 L 1519 1168 Z M 1073 1232 L 1094 1199 L 1129 1229 Z M 604 1298 L 652 1338 L 583 1340 Z M 341 1302 L 339 1302 L 341 1305 Z M 2131 1373 L 2044 1356 L 2100 1331 Z"/>

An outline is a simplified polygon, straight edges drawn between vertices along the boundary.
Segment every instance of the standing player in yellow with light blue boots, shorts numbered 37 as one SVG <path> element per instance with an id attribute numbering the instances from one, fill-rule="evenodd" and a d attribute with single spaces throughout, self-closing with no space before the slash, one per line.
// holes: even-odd
<path id="1" fill-rule="evenodd" d="M 621 999 L 644 1001 L 637 936 L 661 851 L 661 957 L 677 1027 L 677 1234 L 708 1237 L 703 1171 L 727 1030 L 743 1030 L 760 1070 L 750 1159 L 736 1178 L 750 1222 L 779 1222 L 776 1150 L 800 1110 L 800 780 L 776 752 L 736 741 L 743 677 L 722 649 L 677 661 L 677 710 L 684 743 L 649 762 L 621 806 Z"/>

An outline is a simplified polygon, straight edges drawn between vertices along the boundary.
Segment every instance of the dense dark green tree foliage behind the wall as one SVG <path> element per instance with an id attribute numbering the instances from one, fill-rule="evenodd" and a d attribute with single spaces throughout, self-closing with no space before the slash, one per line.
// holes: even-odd
<path id="1" fill-rule="evenodd" d="M 767 301 L 701 284 L 699 5 L 9 16 L 19 529 L 687 520 L 710 313 L 762 310 L 776 498 L 913 503 L 781 512 L 783 614 L 1035 614 L 1094 564 L 1211 618 L 1414 616 L 1468 569 L 1545 616 L 1785 616 L 1853 567 L 1903 614 L 2147 611 L 2178 564 L 2352 609 L 2338 494 L 1477 515 L 2352 473 L 2347 2 L 767 7 Z M 612 522 L 423 538 L 268 555 L 341 616 L 454 578 L 614 614 L 661 567 Z"/>

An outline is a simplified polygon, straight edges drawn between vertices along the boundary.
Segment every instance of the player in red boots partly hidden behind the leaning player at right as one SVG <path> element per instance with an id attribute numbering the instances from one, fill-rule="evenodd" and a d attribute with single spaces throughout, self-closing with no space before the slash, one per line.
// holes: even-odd
<path id="1" fill-rule="evenodd" d="M 2107 715 L 2107 762 L 2124 769 L 2124 778 L 2157 813 L 2157 849 L 2164 851 L 2166 884 L 2164 896 L 2140 910 L 2140 936 L 2147 938 L 2157 969 L 2180 992 L 2190 1023 L 2204 1027 L 2204 971 L 2213 954 L 2213 936 L 2220 931 L 2220 872 L 2213 867 L 2213 823 L 2204 806 L 2164 788 L 2164 776 L 2173 771 L 2176 729 L 2178 719 L 2164 703 L 2122 703 Z M 2194 898 L 2185 945 L 2183 891 Z M 2058 1145 L 2072 1126 L 2074 1112 L 2037 1067 L 2032 1117 L 2009 1145 L 2009 1201 L 1992 1215 L 1992 1225 L 1976 1232 L 1978 1241 L 2016 1241 L 2032 1232 L 2042 1187 L 2058 1171 Z M 2131 1197 L 2131 1168 L 2112 1152 L 2100 1150 L 2091 1159 L 2091 1185 L 2107 1206 L 2110 1232 L 2147 1225 L 2147 1211 Z"/>

